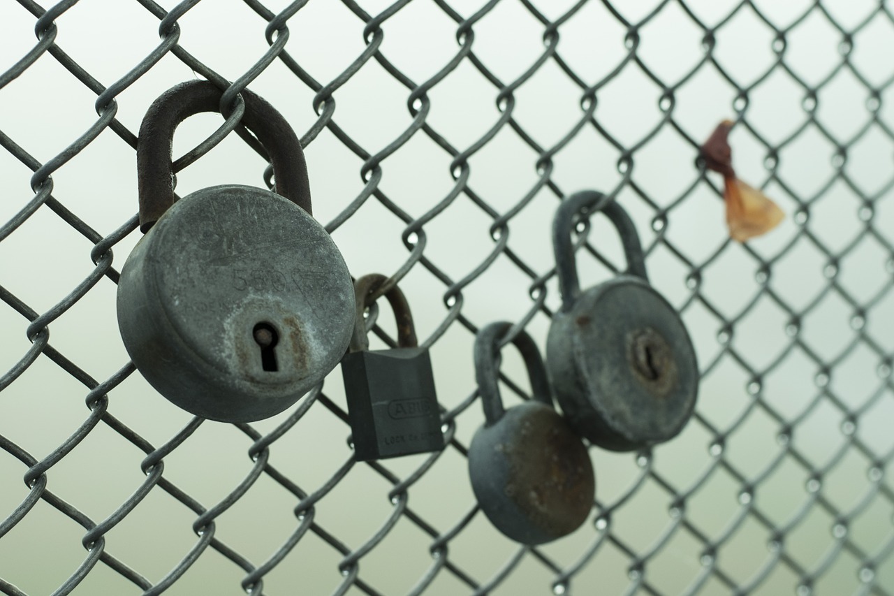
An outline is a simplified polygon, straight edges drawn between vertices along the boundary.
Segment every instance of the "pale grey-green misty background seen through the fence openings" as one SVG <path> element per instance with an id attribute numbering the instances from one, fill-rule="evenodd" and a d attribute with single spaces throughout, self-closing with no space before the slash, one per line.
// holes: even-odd
<path id="1" fill-rule="evenodd" d="M 174 3 L 162 2 L 170 9 Z M 273 10 L 287 3 L 267 2 Z M 378 13 L 388 2 L 361 3 L 367 12 Z M 471 14 L 481 2 L 456 0 L 453 8 Z M 537 3 L 551 17 L 566 11 L 571 2 L 550 0 Z M 650 12 L 654 1 L 619 4 L 630 20 Z M 687 2 L 704 21 L 714 22 L 729 13 L 731 3 L 711 0 Z M 773 21 L 784 25 L 805 10 L 808 2 L 755 3 Z M 862 20 L 876 3 L 869 0 L 828 2 L 831 13 L 845 25 Z M 0 4 L 0 70 L 14 64 L 36 43 L 34 17 L 13 2 Z M 217 72 L 238 78 L 267 50 L 266 22 L 237 0 L 199 4 L 181 18 L 181 45 Z M 57 21 L 56 43 L 105 85 L 121 78 L 158 44 L 158 21 L 139 4 L 113 0 L 83 0 Z M 288 51 L 318 81 L 331 81 L 365 47 L 363 23 L 341 3 L 314 0 L 289 21 Z M 384 25 L 382 52 L 415 81 L 424 81 L 442 68 L 458 50 L 456 24 L 428 0 L 410 3 Z M 503 0 L 475 26 L 474 50 L 503 81 L 524 72 L 544 51 L 544 27 L 514 0 Z M 591 2 L 571 21 L 561 26 L 559 51 L 586 81 L 594 82 L 611 72 L 626 55 L 625 30 L 603 4 Z M 639 57 L 665 81 L 677 81 L 703 55 L 702 31 L 669 3 L 659 18 L 640 32 Z M 789 35 L 786 61 L 806 81 L 822 80 L 839 61 L 839 33 L 829 21 L 814 14 Z M 894 27 L 879 21 L 856 38 L 853 61 L 871 81 L 885 81 L 894 67 Z M 772 64 L 772 33 L 750 9 L 744 9 L 718 35 L 714 56 L 738 81 L 750 83 Z M 195 74 L 167 55 L 147 75 L 118 96 L 117 118 L 132 132 L 149 103 L 164 89 L 193 78 Z M 251 89 L 277 106 L 299 135 L 316 121 L 314 93 L 279 62 L 274 62 Z M 630 145 L 658 122 L 661 91 L 635 66 L 600 91 L 595 115 L 620 142 Z M 406 101 L 409 92 L 375 64 L 368 63 L 358 75 L 335 94 L 335 121 L 370 153 L 384 148 L 411 121 Z M 581 92 L 553 63 L 545 64 L 536 76 L 516 92 L 514 116 L 545 147 L 552 146 L 580 119 Z M 752 92 L 747 111 L 752 123 L 769 140 L 792 132 L 805 115 L 803 91 L 784 72 L 775 72 Z M 429 94 L 432 101 L 428 122 L 451 143 L 464 149 L 495 123 L 500 112 L 495 105 L 497 90 L 465 61 Z M 848 139 L 865 122 L 867 93 L 848 72 L 842 72 L 822 91 L 819 117 L 831 132 Z M 892 118 L 894 98 L 882 98 L 881 114 Z M 721 119 L 731 117 L 735 90 L 716 71 L 704 68 L 677 93 L 674 118 L 693 138 L 704 139 Z M 46 162 L 72 143 L 97 119 L 95 95 L 76 81 L 50 55 L 41 57 L 21 78 L 0 90 L 0 130 Z M 199 115 L 184 123 L 174 140 L 174 153 L 181 155 L 213 132 L 217 115 Z M 742 128 L 731 135 L 738 172 L 753 185 L 767 179 L 765 150 Z M 832 173 L 833 148 L 815 131 L 805 132 L 780 156 L 780 175 L 802 196 L 816 192 Z M 697 173 L 694 150 L 671 127 L 664 127 L 654 140 L 636 154 L 634 179 L 659 204 L 679 197 Z M 362 161 L 328 131 L 321 132 L 307 150 L 308 169 L 316 217 L 328 222 L 344 209 L 364 182 L 358 175 Z M 621 175 L 615 163 L 618 153 L 591 127 L 586 127 L 569 147 L 554 159 L 553 181 L 564 192 L 595 188 L 612 191 Z M 380 187 L 410 215 L 419 217 L 451 191 L 450 156 L 422 133 L 383 164 Z M 536 153 L 505 127 L 470 161 L 469 184 L 501 211 L 510 209 L 536 183 Z M 178 176 L 181 196 L 218 183 L 259 185 L 263 171 L 260 158 L 240 139 L 231 135 L 207 157 Z M 851 149 L 847 171 L 867 192 L 881 187 L 891 175 L 891 142 L 881 132 L 865 135 Z M 9 153 L 0 151 L 0 221 L 12 217 L 33 197 L 30 171 Z M 133 151 L 111 131 L 97 140 L 53 175 L 54 196 L 72 209 L 100 234 L 110 234 L 137 208 L 136 168 Z M 719 183 L 718 179 L 714 183 Z M 779 185 L 765 189 L 789 217 L 772 234 L 750 243 L 750 249 L 771 257 L 797 232 L 791 217 L 794 201 Z M 619 200 L 637 221 L 644 243 L 651 244 L 652 212 L 625 188 Z M 552 267 L 549 223 L 557 204 L 551 192 L 542 192 L 510 223 L 510 248 L 518 251 L 538 273 Z M 843 183 L 836 183 L 812 212 L 810 229 L 831 249 L 840 249 L 861 229 L 856 215 L 859 202 Z M 894 202 L 890 193 L 878 201 L 876 226 L 894 230 Z M 492 220 L 465 196 L 426 225 L 426 257 L 453 279 L 460 279 L 493 250 L 488 233 Z M 390 274 L 401 266 L 409 252 L 401 243 L 404 225 L 375 200 L 358 211 L 333 233 L 354 275 L 368 272 Z M 592 241 L 620 262 L 619 244 L 603 222 L 595 222 Z M 668 237 L 687 257 L 702 262 L 725 240 L 722 203 L 707 185 L 700 185 L 678 208 L 671 211 Z M 139 233 L 114 247 L 114 267 L 120 268 Z M 604 239 L 604 240 L 603 240 Z M 80 234 L 64 224 L 49 209 L 42 208 L 19 230 L 0 243 L 0 284 L 38 312 L 46 311 L 87 277 L 94 266 L 92 248 Z M 862 300 L 890 283 L 889 255 L 876 243 L 865 243 L 841 264 L 841 280 Z M 687 301 L 691 290 L 685 280 L 688 269 L 663 247 L 648 261 L 654 285 L 675 305 Z M 801 307 L 811 300 L 827 280 L 824 258 L 808 243 L 796 248 L 772 272 L 772 288 L 790 303 Z M 581 277 L 593 284 L 607 271 L 592 260 L 582 260 Z M 745 248 L 731 244 L 704 272 L 703 293 L 723 314 L 734 317 L 758 290 L 756 265 Z M 477 325 L 495 319 L 517 320 L 531 307 L 527 294 L 530 280 L 504 257 L 498 258 L 484 276 L 463 291 L 463 314 Z M 426 338 L 441 323 L 444 286 L 424 268 L 413 268 L 401 283 L 414 307 L 420 338 Z M 108 279 L 99 284 L 51 325 L 50 341 L 95 379 L 106 379 L 127 362 L 114 318 L 115 286 Z M 549 285 L 547 305 L 558 304 L 554 280 Z M 384 311 L 384 309 L 383 309 Z M 847 304 L 835 296 L 824 301 L 802 326 L 802 336 L 823 357 L 839 353 L 855 336 Z M 720 323 L 696 305 L 684 319 L 705 365 L 721 350 L 717 334 Z M 769 300 L 763 300 L 736 328 L 734 345 L 757 368 L 765 367 L 788 345 L 786 315 Z M 869 313 L 867 328 L 889 351 L 894 348 L 894 298 L 886 297 Z M 382 324 L 389 328 L 389 315 Z M 30 347 L 25 336 L 27 321 L 0 305 L 0 370 L 7 370 Z M 548 319 L 538 314 L 528 330 L 543 345 Z M 439 398 L 454 407 L 475 390 L 471 362 L 473 337 L 453 325 L 432 349 Z M 834 370 L 831 387 L 856 406 L 881 381 L 875 369 L 877 357 L 865 348 Z M 506 370 L 519 376 L 519 358 L 505 358 Z M 765 379 L 767 399 L 781 413 L 795 417 L 818 391 L 817 370 L 801 353 L 792 353 Z M 704 379 L 699 412 L 721 428 L 737 420 L 748 402 L 749 379 L 735 362 L 727 359 Z M 864 416 L 857 429 L 860 438 L 879 453 L 891 447 L 890 421 L 894 400 L 888 395 Z M 339 370 L 326 379 L 325 392 L 343 405 Z M 87 389 L 41 357 L 0 396 L 0 432 L 38 458 L 57 447 L 87 416 L 83 398 Z M 506 396 L 507 400 L 514 399 Z M 154 445 L 171 438 L 190 416 L 158 396 L 140 377 L 132 374 L 109 396 L 109 411 L 125 421 Z M 457 437 L 468 444 L 483 417 L 477 404 L 460 418 Z M 285 414 L 283 414 L 284 416 Z M 258 422 L 262 432 L 272 430 L 283 416 Z M 824 464 L 845 440 L 839 431 L 840 413 L 822 404 L 797 427 L 793 440 L 809 454 L 814 464 Z M 759 473 L 780 453 L 776 440 L 778 425 L 760 411 L 751 413 L 730 438 L 726 454 L 738 469 Z M 271 464 L 309 491 L 322 485 L 350 458 L 348 429 L 331 413 L 316 404 L 307 417 L 279 440 L 272 449 Z M 655 450 L 654 465 L 680 490 L 688 488 L 710 464 L 711 437 L 693 422 L 664 447 Z M 165 458 L 164 474 L 182 489 L 211 507 L 249 472 L 246 455 L 250 441 L 231 426 L 206 422 L 186 443 Z M 597 498 L 611 503 L 628 489 L 642 470 L 635 456 L 592 452 L 597 477 Z M 95 521 L 105 519 L 144 480 L 139 471 L 143 454 L 113 431 L 100 424 L 70 456 L 48 473 L 48 488 Z M 405 476 L 425 456 L 410 456 L 387 462 Z M 448 449 L 434 468 L 410 490 L 409 506 L 441 532 L 458 523 L 472 507 L 466 462 Z M 822 485 L 824 496 L 837 507 L 853 507 L 868 490 L 865 480 L 869 464 L 853 452 Z M 0 452 L 0 515 L 16 507 L 28 492 L 21 482 L 24 466 Z M 773 521 L 782 524 L 807 498 L 806 475 L 787 461 L 764 481 L 754 498 Z M 390 484 L 365 464 L 353 467 L 348 476 L 318 505 L 316 522 L 350 548 L 367 541 L 392 512 L 387 498 Z M 687 515 L 709 536 L 719 535 L 739 515 L 740 487 L 725 473 L 715 473 L 690 499 Z M 291 514 L 296 504 L 285 490 L 262 477 L 248 495 L 217 520 L 217 537 L 226 541 L 256 565 L 268 558 L 297 526 Z M 645 552 L 672 523 L 670 498 L 654 482 L 646 481 L 634 498 L 615 515 L 612 531 L 632 548 Z M 852 539 L 873 551 L 891 540 L 890 503 L 876 500 L 851 524 Z M 190 525 L 195 519 L 161 490 L 148 498 L 106 536 L 106 548 L 151 581 L 160 580 L 197 541 Z M 831 548 L 831 517 L 814 507 L 797 531 L 789 535 L 786 548 L 807 566 L 818 565 Z M 592 520 L 569 538 L 544 547 L 564 566 L 570 566 L 595 541 L 598 532 Z M 52 592 L 64 582 L 86 556 L 80 545 L 83 530 L 45 503 L 0 540 L 0 577 L 30 594 Z M 724 570 L 739 583 L 746 583 L 763 561 L 770 557 L 769 534 L 748 519 L 735 538 L 718 554 Z M 385 594 L 408 592 L 432 565 L 428 546 L 432 540 L 405 519 L 398 522 L 385 541 L 361 559 L 360 576 Z M 647 578 L 663 593 L 683 592 L 702 570 L 704 545 L 687 532 L 674 539 L 652 559 Z M 450 558 L 478 582 L 497 574 L 518 546 L 495 532 L 482 515 L 450 543 Z M 316 536 L 299 542 L 289 558 L 265 578 L 266 593 L 325 594 L 342 581 L 337 565 L 341 556 Z M 630 582 L 630 560 L 614 546 L 603 546 L 591 563 L 576 577 L 571 588 L 579 594 L 620 594 Z M 817 593 L 843 594 L 856 590 L 856 559 L 842 554 L 817 584 Z M 894 587 L 894 564 L 890 559 L 878 571 L 878 582 Z M 189 572 L 167 593 L 239 594 L 243 573 L 232 563 L 208 549 Z M 549 593 L 552 574 L 543 565 L 525 557 L 510 578 L 493 593 Z M 778 566 L 760 593 L 792 593 L 796 576 Z M 468 588 L 449 573 L 434 581 L 431 594 L 468 593 Z M 130 583 L 102 564 L 74 592 L 76 594 L 139 593 Z M 360 593 L 351 589 L 348 593 Z M 726 593 L 721 583 L 710 579 L 705 594 Z"/>

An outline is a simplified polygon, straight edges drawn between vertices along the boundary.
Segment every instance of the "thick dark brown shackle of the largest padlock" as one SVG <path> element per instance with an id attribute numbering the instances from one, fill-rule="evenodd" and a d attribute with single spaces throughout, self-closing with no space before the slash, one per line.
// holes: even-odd
<path id="1" fill-rule="evenodd" d="M 282 114 L 249 89 L 242 89 L 242 124 L 266 149 L 274 167 L 276 193 L 308 214 L 310 183 L 301 143 Z M 186 81 L 164 91 L 149 106 L 139 125 L 137 174 L 139 229 L 145 234 L 174 202 L 171 149 L 173 132 L 183 120 L 200 112 L 220 112 L 223 91 L 210 81 Z"/>

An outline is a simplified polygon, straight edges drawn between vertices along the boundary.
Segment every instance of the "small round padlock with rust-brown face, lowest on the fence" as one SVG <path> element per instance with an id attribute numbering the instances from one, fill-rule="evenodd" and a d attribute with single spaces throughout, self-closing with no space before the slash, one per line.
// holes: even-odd
<path id="1" fill-rule="evenodd" d="M 468 448 L 468 475 L 478 506 L 500 532 L 522 544 L 542 544 L 586 521 L 595 477 L 583 442 L 552 408 L 544 362 L 524 331 L 512 343 L 524 358 L 533 399 L 503 409 L 497 345 L 509 328 L 492 323 L 475 340 L 485 425 Z"/>

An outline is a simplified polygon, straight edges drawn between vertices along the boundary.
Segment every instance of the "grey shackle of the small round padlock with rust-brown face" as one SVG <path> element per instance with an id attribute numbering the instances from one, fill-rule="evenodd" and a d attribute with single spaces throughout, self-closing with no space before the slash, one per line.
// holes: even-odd
<path id="1" fill-rule="evenodd" d="M 475 338 L 475 379 L 478 383 L 478 395 L 481 396 L 481 403 L 485 408 L 485 427 L 499 421 L 506 411 L 500 396 L 500 367 L 497 362 L 500 348 L 497 346 L 511 327 L 512 323 L 506 321 L 491 323 L 480 329 Z M 540 356 L 540 350 L 537 349 L 534 339 L 527 335 L 524 329 L 521 329 L 512 338 L 512 343 L 519 348 L 521 357 L 525 361 L 527 379 L 531 383 L 533 399 L 552 408 L 552 394 L 549 380 L 546 378 L 544 360 Z"/>

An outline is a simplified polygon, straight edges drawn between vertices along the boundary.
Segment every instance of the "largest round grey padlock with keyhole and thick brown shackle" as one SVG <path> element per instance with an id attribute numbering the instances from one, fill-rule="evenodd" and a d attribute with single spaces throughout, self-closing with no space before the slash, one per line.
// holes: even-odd
<path id="1" fill-rule="evenodd" d="M 270 155 L 276 193 L 226 184 L 174 202 L 174 129 L 217 112 L 221 96 L 210 82 L 182 83 L 140 125 L 144 236 L 122 268 L 118 325 L 137 369 L 174 404 L 216 421 L 256 421 L 294 404 L 342 359 L 354 291 L 310 214 L 298 138 L 248 89 L 241 122 Z"/>

